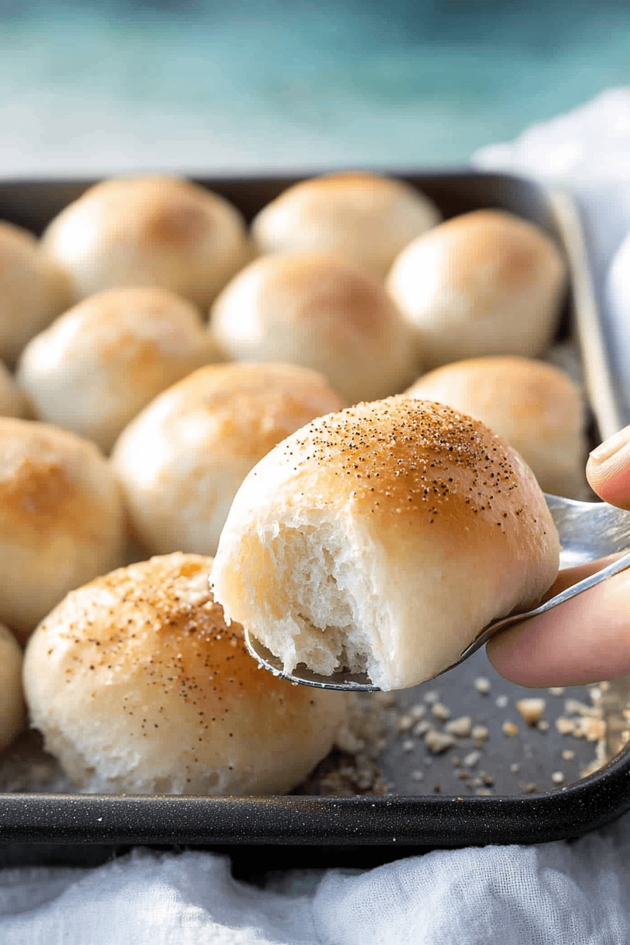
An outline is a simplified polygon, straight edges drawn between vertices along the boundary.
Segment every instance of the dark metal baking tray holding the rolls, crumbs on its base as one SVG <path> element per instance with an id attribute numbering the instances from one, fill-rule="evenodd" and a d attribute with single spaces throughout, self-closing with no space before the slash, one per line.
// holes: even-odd
<path id="1" fill-rule="evenodd" d="M 570 291 L 557 340 L 575 338 L 579 343 L 593 441 L 619 429 L 587 248 L 570 197 L 532 180 L 469 169 L 383 173 L 416 185 L 447 217 L 501 208 L 532 220 L 557 240 L 570 266 Z M 287 186 L 310 176 L 304 171 L 295 176 L 196 180 L 250 219 Z M 94 182 L 0 181 L 0 218 L 40 233 Z M 483 686 L 480 679 L 485 679 Z M 245 799 L 5 793 L 0 795 L 0 864 L 95 863 L 136 844 L 185 845 L 230 851 L 241 864 L 236 871 L 246 874 L 253 869 L 247 864 L 260 862 L 263 853 L 271 868 L 279 847 L 283 866 L 369 866 L 435 847 L 574 837 L 630 808 L 630 753 L 622 745 L 627 738 L 622 714 L 625 680 L 598 691 L 600 703 L 616 700 L 617 743 L 609 740 L 608 750 L 611 745 L 620 749 L 600 770 L 581 777 L 581 769 L 592 760 L 593 744 L 586 739 L 568 742 L 554 724 L 565 713 L 567 698 L 584 705 L 590 697 L 592 703 L 591 690 L 571 687 L 562 694 L 541 694 L 521 689 L 501 679 L 480 651 L 449 674 L 397 694 L 395 704 L 383 710 L 389 722 L 379 764 L 391 793 Z M 530 729 L 515 704 L 520 697 L 540 695 L 547 702 L 547 725 Z M 416 723 L 420 716 L 434 713 L 435 704 L 446 705 L 453 718 L 470 715 L 474 725 L 485 727 L 487 737 L 460 740 L 457 756 L 454 749 L 435 755 L 420 751 L 420 741 L 410 748 L 408 717 Z M 516 723 L 518 734 L 507 734 L 506 722 Z M 573 757 L 563 756 L 568 750 L 574 751 Z M 475 751 L 479 759 L 470 765 Z M 460 777 L 462 772 L 466 779 Z M 561 782 L 552 780 L 558 773 Z"/>

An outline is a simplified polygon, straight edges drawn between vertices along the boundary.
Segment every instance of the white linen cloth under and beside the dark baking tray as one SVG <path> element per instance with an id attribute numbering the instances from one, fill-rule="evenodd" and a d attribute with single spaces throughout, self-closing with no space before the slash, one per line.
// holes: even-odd
<path id="1" fill-rule="evenodd" d="M 630 90 L 475 163 L 569 184 L 601 248 L 630 227 Z M 1 945 L 628 945 L 630 815 L 574 842 L 433 851 L 381 868 L 236 882 L 227 857 L 137 850 L 0 872 Z"/>

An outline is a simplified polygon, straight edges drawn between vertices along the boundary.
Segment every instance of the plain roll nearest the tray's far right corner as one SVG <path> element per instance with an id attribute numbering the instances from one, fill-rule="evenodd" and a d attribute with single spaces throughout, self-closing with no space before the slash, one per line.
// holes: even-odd
<path id="1" fill-rule="evenodd" d="M 536 356 L 552 340 L 566 283 L 553 240 L 498 210 L 455 216 L 418 236 L 387 277 L 431 368 L 483 354 Z"/>

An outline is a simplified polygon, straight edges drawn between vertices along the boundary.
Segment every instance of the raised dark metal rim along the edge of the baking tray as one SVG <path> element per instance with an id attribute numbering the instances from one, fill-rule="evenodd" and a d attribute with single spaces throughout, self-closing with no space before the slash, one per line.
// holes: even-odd
<path id="1" fill-rule="evenodd" d="M 331 171 L 343 171 L 336 165 Z M 526 187 L 546 206 L 553 218 L 556 235 L 567 254 L 570 268 L 572 315 L 587 374 L 588 399 L 596 419 L 598 390 L 589 387 L 589 374 L 604 385 L 609 382 L 603 342 L 598 338 L 597 311 L 588 267 L 586 243 L 577 205 L 566 191 L 551 188 L 524 175 L 485 171 L 475 167 L 370 168 L 377 173 L 439 185 L 457 180 L 495 183 L 503 187 Z M 142 172 L 145 173 L 145 172 Z M 154 171 L 168 175 L 172 171 Z M 296 180 L 326 173 L 325 169 L 282 169 L 279 173 L 216 174 L 181 170 L 179 176 L 207 186 L 288 186 Z M 130 177 L 125 174 L 111 176 Z M 3 191 L 31 188 L 85 189 L 102 178 L 0 179 Z M 280 192 L 280 190 L 279 190 Z M 497 204 L 495 204 L 497 205 Z M 0 212 L 1 212 L 0 206 Z M 580 296 L 576 296 L 576 288 Z M 585 302 L 586 300 L 586 302 Z M 587 306 L 589 335 L 580 333 L 580 306 Z M 599 347 L 592 342 L 592 332 Z M 593 373 L 594 357 L 594 373 Z M 588 360 L 589 359 L 589 360 Z M 607 396 L 607 395 L 606 395 Z M 595 403 L 593 403 L 595 402 Z M 609 406 L 605 409 L 609 411 Z M 614 404 L 613 404 L 614 409 Z M 605 416 L 609 416 L 609 413 Z M 614 422 L 614 421 L 613 421 Z M 607 433 L 606 433 L 607 435 Z M 212 797 L 138 796 L 11 793 L 0 794 L 0 842 L 59 844 L 274 844 L 274 845 L 391 845 L 459 847 L 486 843 L 536 843 L 565 839 L 594 830 L 630 809 L 630 745 L 586 778 L 552 791 L 521 796 L 470 797 L 457 795 L 385 795 L 350 798 L 317 796 Z M 121 815 L 122 812 L 122 815 Z M 356 812 L 356 813 L 355 813 Z M 369 820 L 366 832 L 352 824 L 360 812 Z M 448 813 L 447 813 L 448 812 Z M 156 830 L 156 815 L 164 816 Z M 216 816 L 219 823 L 213 823 Z M 111 818 L 117 818 L 117 824 Z M 190 823 L 182 822 L 191 819 Z M 431 822 L 427 822 L 428 819 Z M 462 822 L 474 820 L 474 829 L 464 831 Z M 194 822 L 193 822 L 194 821 Z M 210 824 L 208 821 L 211 821 Z M 135 822 L 135 827 L 134 827 Z M 241 830 L 234 827 L 241 823 Z M 437 825 L 437 827 L 435 826 Z"/>

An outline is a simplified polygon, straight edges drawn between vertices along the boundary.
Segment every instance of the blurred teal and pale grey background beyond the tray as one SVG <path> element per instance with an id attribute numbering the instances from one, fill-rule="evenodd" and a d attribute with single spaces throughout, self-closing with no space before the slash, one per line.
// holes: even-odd
<path id="1" fill-rule="evenodd" d="M 627 0 L 0 0 L 0 174 L 466 163 L 629 53 Z"/>

